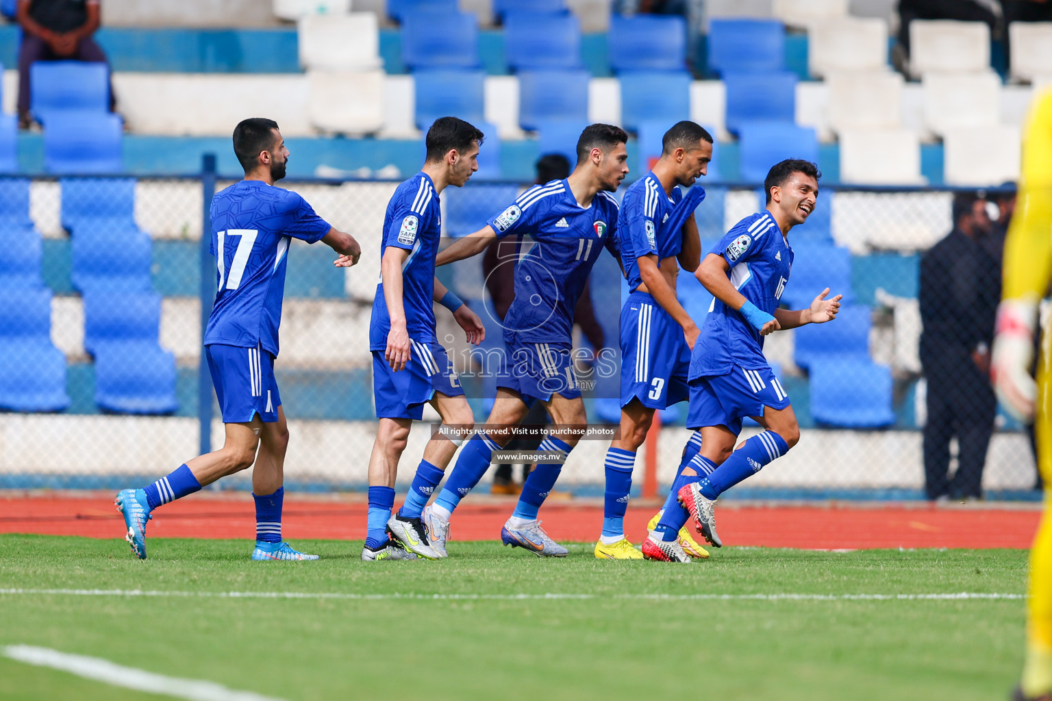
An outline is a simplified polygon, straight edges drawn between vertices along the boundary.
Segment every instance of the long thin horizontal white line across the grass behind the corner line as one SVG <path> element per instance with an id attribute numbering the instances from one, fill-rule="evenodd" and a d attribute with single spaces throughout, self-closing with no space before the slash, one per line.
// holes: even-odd
<path id="1" fill-rule="evenodd" d="M 662 601 L 960 601 L 989 599 L 1026 599 L 1026 594 L 958 592 L 937 594 L 349 594 L 343 592 L 179 592 L 121 589 L 0 589 L 2 595 L 57 596 L 170 596 L 222 599 L 350 599 L 387 600 L 545 600 L 545 599 L 636 599 Z"/>

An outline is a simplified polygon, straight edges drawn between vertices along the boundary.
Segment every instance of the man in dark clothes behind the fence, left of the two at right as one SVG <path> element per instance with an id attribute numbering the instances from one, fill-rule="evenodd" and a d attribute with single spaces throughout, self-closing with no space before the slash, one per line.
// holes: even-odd
<path id="1" fill-rule="evenodd" d="M 983 246 L 993 223 L 974 193 L 953 200 L 953 231 L 920 261 L 920 366 L 928 383 L 924 429 L 929 499 L 983 496 L 983 468 L 996 400 L 990 386 L 990 344 L 1000 298 L 1000 266 Z M 957 471 L 949 479 L 950 439 Z"/>

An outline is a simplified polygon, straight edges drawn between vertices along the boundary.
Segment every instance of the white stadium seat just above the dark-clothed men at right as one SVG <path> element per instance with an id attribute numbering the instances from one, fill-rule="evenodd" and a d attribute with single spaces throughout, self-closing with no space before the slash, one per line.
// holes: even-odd
<path id="1" fill-rule="evenodd" d="M 989 187 L 1019 179 L 1019 128 L 963 127 L 943 137 L 943 179 L 947 185 Z"/>

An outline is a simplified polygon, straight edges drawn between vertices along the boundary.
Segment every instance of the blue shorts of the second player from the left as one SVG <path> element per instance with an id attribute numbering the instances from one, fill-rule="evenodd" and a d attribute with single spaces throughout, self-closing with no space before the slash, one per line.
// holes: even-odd
<path id="1" fill-rule="evenodd" d="M 424 405 L 436 392 L 446 396 L 464 394 L 442 344 L 411 338 L 409 343 L 409 362 L 398 372 L 387 364 L 384 351 L 372 351 L 372 398 L 377 418 L 420 420 L 424 416 Z"/>

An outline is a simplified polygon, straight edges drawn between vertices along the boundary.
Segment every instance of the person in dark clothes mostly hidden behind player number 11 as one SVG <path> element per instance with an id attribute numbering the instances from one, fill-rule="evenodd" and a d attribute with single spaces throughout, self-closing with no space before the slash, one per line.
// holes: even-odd
<path id="1" fill-rule="evenodd" d="M 535 167 L 535 185 L 544 185 L 553 180 L 564 180 L 570 174 L 570 162 L 562 153 L 547 153 L 542 156 L 538 160 Z M 508 307 L 511 306 L 511 301 L 515 296 L 514 277 L 511 274 L 503 274 L 503 271 L 495 275 L 492 273 L 500 265 L 502 257 L 514 255 L 518 244 L 519 242 L 515 241 L 494 241 L 482 254 L 482 274 L 486 280 L 486 290 L 493 302 L 493 310 L 497 312 L 498 318 L 502 321 L 508 311 Z M 509 249 L 511 249 L 510 252 Z M 581 293 L 578 306 L 573 310 L 573 321 L 576 326 L 581 327 L 581 332 L 588 339 L 588 343 L 591 344 L 592 348 L 598 350 L 603 347 L 605 342 L 603 327 L 600 326 L 599 321 L 595 318 L 595 310 L 592 308 L 591 294 L 587 283 L 585 283 L 585 289 Z M 535 451 L 544 438 L 545 432 L 543 429 L 547 424 L 548 413 L 545 411 L 542 403 L 538 401 L 522 421 L 522 425 L 527 428 L 539 427 L 541 430 L 538 436 L 535 438 L 512 438 L 504 450 Z M 523 466 L 523 481 L 526 480 L 526 473 L 529 471 L 529 468 L 530 466 Z M 511 466 L 508 463 L 498 465 L 497 471 L 493 473 L 491 493 L 519 494 L 521 491 L 521 483 L 517 484 L 511 474 Z"/>

